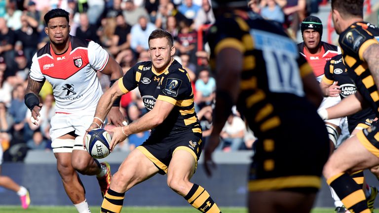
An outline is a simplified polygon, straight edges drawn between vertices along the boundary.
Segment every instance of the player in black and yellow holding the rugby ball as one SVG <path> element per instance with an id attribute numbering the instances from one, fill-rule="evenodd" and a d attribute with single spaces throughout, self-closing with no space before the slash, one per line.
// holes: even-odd
<path id="1" fill-rule="evenodd" d="M 111 186 L 101 206 L 102 213 L 121 212 L 125 192 L 155 174 L 167 174 L 167 184 L 183 196 L 190 205 L 203 213 L 220 213 L 208 192 L 189 182 L 202 149 L 201 126 L 197 119 L 189 74 L 174 60 L 173 38 L 157 29 L 149 36 L 152 61 L 132 67 L 100 98 L 95 116 L 105 119 L 113 100 L 139 89 L 149 110 L 125 127 L 116 127 L 111 150 L 127 136 L 152 129 L 151 136 L 131 151 L 114 174 Z M 99 119 L 93 122 L 100 125 Z M 96 128 L 92 126 L 87 130 Z"/>

